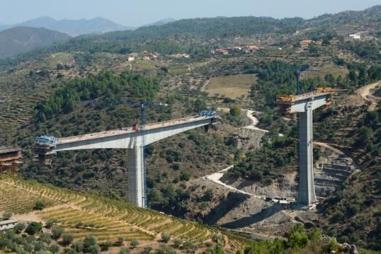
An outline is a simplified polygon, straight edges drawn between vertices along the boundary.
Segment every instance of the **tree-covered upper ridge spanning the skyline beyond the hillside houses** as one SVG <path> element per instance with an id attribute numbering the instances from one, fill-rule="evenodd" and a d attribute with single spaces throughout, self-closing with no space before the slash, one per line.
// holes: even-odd
<path id="1" fill-rule="evenodd" d="M 16 61 L 0 62 L 0 67 L 24 62 L 35 55 L 42 56 L 63 51 L 131 53 L 146 50 L 161 54 L 188 52 L 195 57 L 207 57 L 210 56 L 210 47 L 249 43 L 285 45 L 305 37 L 321 40 L 328 37 L 331 40 L 332 36 L 336 35 L 340 35 L 343 40 L 353 33 L 379 37 L 381 28 L 377 17 L 380 16 L 380 9 L 380 6 L 374 6 L 364 11 L 326 14 L 309 20 L 254 16 L 183 19 L 159 26 L 143 26 L 136 30 L 80 36 L 56 47 L 45 47 L 43 50 L 30 52 L 18 57 Z M 358 21 L 360 16 L 364 18 Z M 326 23 L 329 23 L 329 26 Z M 363 47 L 366 51 L 375 46 L 363 45 Z"/>

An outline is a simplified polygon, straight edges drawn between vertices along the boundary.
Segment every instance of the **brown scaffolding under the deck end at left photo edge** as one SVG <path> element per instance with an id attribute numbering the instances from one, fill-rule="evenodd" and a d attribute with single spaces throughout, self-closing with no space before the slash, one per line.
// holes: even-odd
<path id="1" fill-rule="evenodd" d="M 21 149 L 0 147 L 0 173 L 17 176 L 20 160 Z"/>

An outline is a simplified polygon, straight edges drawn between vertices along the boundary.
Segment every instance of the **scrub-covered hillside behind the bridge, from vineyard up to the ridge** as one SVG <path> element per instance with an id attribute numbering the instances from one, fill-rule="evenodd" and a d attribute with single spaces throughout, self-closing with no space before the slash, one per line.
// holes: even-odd
<path id="1" fill-rule="evenodd" d="M 259 241 L 267 253 L 291 248 L 290 231 L 304 237 L 304 229 L 295 226 L 298 222 L 309 233 L 318 227 L 340 243 L 380 250 L 379 13 L 380 6 L 375 6 L 309 21 L 187 19 L 135 31 L 80 36 L 4 59 L 0 62 L 4 67 L 0 72 L 0 139 L 23 149 L 21 178 L 130 209 L 124 203 L 128 184 L 125 151 L 59 152 L 51 166 L 41 166 L 33 153 L 33 137 L 67 137 L 140 122 L 139 108 L 84 105 L 77 100 L 168 103 L 165 108 L 147 109 L 149 123 L 204 109 L 219 110 L 217 129 L 209 133 L 194 129 L 147 146 L 151 209 L 208 224 L 202 226 L 207 237 L 210 226 L 217 225 L 253 238 L 288 238 L 286 242 Z M 360 33 L 361 39 L 349 37 L 351 33 Z M 314 178 L 319 203 L 309 209 L 292 202 L 299 181 L 297 116 L 281 115 L 274 103 L 280 94 L 296 93 L 295 74 L 300 69 L 304 70 L 302 93 L 324 87 L 336 91 L 331 105 L 314 111 Z M 83 214 L 87 202 L 82 207 L 77 201 L 71 201 L 74 208 L 51 204 L 40 216 L 46 212 L 50 218 L 51 212 L 64 217 L 56 211 L 61 207 L 70 217 L 74 217 L 70 209 L 89 216 Z M 89 207 L 91 216 L 103 214 L 95 204 Z M 120 212 L 119 208 L 105 209 L 107 216 Z M 121 213 L 126 214 L 123 209 Z M 148 211 L 154 215 L 144 221 L 154 225 L 157 216 L 164 216 Z M 125 220 L 135 229 L 152 233 L 149 226 L 139 225 L 137 217 L 130 219 Z M 62 226 L 68 232 L 79 231 L 69 222 Z M 285 253 L 319 253 L 327 244 L 308 247 L 305 240 L 302 243 L 303 248 Z M 256 248 L 246 253 L 256 253 Z M 328 249 L 321 252 L 329 253 Z"/>

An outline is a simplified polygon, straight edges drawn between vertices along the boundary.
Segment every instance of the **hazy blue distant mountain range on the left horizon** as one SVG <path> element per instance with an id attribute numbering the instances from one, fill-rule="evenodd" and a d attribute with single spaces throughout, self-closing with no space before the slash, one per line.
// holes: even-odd
<path id="1" fill-rule="evenodd" d="M 156 23 L 149 25 L 164 25 L 175 21 L 172 18 L 166 18 Z M 106 18 L 91 18 L 85 19 L 81 18 L 79 20 L 69 20 L 62 19 L 60 21 L 55 20 L 49 16 L 43 16 L 40 18 L 35 18 L 30 21 L 25 21 L 20 24 L 15 25 L 0 25 L 0 31 L 13 28 L 16 26 L 29 26 L 32 28 L 47 28 L 49 30 L 57 30 L 61 33 L 67 33 L 68 35 L 85 35 L 85 34 L 102 34 L 112 31 L 123 31 L 123 30 L 135 30 L 137 27 L 128 27 L 124 25 L 119 25 L 113 21 L 109 21 Z M 147 25 L 144 25 L 147 26 Z"/>

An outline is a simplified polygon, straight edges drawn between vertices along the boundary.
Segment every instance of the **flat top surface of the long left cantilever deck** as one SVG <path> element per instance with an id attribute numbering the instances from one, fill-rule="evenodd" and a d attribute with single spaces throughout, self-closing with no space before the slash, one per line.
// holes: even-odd
<path id="1" fill-rule="evenodd" d="M 207 120 L 207 119 L 212 119 L 212 118 L 217 118 L 216 116 L 193 116 L 193 117 L 183 117 L 179 118 L 176 120 L 169 120 L 169 121 L 164 121 L 164 122 L 154 122 L 152 124 L 147 124 L 145 125 L 145 130 L 148 131 L 150 129 L 157 129 L 161 127 L 167 127 L 167 126 L 174 126 L 174 125 L 183 125 L 188 122 L 195 122 L 198 120 Z M 72 143 L 72 142 L 79 142 L 79 141 L 86 141 L 89 139 L 99 139 L 103 137 L 112 137 L 112 136 L 118 136 L 118 135 L 123 135 L 123 134 L 128 134 L 128 133 L 134 133 L 134 132 L 140 132 L 140 125 L 137 125 L 137 129 L 133 129 L 133 127 L 125 127 L 122 129 L 112 129 L 104 132 L 95 132 L 91 134 L 83 134 L 83 135 L 78 135 L 78 136 L 73 136 L 73 137 L 64 137 L 61 139 L 58 139 L 57 144 L 67 144 L 67 143 Z"/>

